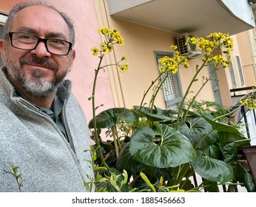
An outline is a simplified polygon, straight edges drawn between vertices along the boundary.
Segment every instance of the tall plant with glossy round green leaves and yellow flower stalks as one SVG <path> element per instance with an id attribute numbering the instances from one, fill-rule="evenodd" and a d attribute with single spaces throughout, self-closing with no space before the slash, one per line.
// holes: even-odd
<path id="1" fill-rule="evenodd" d="M 255 191 L 252 175 L 238 162 L 238 147 L 248 146 L 249 141 L 234 126 L 222 122 L 231 112 L 216 117 L 211 112 L 192 110 L 198 94 L 211 77 L 203 77 L 201 88 L 186 103 L 202 69 L 209 64 L 215 70 L 229 67 L 232 38 L 212 33 L 207 38 L 188 39 L 186 44 L 196 45 L 194 48 L 201 50 L 203 58 L 201 66 L 195 68 L 178 110 L 155 106 L 155 97 L 168 75 L 178 72 L 181 65 L 189 67 L 188 56 L 181 56 L 178 48 L 172 46 L 174 57 L 160 59 L 160 75 L 144 92 L 140 104 L 133 109 L 107 109 L 96 115 L 98 72 L 107 67 L 101 65 L 102 60 L 114 44 L 124 44 L 114 28 L 104 27 L 99 33 L 104 35 L 104 42 L 100 48 L 92 48 L 93 55 L 98 55 L 100 61 L 89 98 L 93 114 L 89 127 L 95 141 L 91 151 L 95 178 L 85 185 L 92 188 L 94 184 L 96 191 L 218 191 L 218 185 L 226 184 L 229 191 L 237 185 Z M 124 72 L 128 63 L 121 64 L 122 61 L 126 58 L 122 57 L 116 65 Z M 151 90 L 152 97 L 146 106 L 144 98 Z M 245 104 L 246 101 L 240 106 Z M 101 129 L 107 129 L 111 140 L 101 140 Z M 203 179 L 199 185 L 192 182 L 195 174 Z"/>

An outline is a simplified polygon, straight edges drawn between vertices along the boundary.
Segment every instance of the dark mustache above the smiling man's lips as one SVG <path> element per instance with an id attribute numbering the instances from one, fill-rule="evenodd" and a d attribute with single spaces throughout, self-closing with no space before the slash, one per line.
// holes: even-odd
<path id="1" fill-rule="evenodd" d="M 20 59 L 20 64 L 36 64 L 41 67 L 47 67 L 50 69 L 58 69 L 58 65 L 50 61 L 49 58 L 38 58 L 35 55 L 31 55 L 30 57 L 22 57 Z"/>

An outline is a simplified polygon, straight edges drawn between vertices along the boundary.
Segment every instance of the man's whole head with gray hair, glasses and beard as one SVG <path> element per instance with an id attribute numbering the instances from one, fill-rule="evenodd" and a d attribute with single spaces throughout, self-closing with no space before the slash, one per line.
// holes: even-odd
<path id="1" fill-rule="evenodd" d="M 7 75 L 21 92 L 48 98 L 72 68 L 74 43 L 70 18 L 51 4 L 16 4 L 4 27 L 4 40 L 0 41 Z"/>

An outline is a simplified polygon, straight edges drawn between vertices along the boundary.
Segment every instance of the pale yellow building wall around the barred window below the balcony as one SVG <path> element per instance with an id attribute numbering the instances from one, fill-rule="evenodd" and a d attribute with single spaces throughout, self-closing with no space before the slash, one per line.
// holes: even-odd
<path id="1" fill-rule="evenodd" d="M 172 52 L 169 46 L 177 44 L 177 34 L 112 18 L 107 13 L 107 5 L 104 4 L 104 1 L 95 1 L 95 8 L 100 27 L 115 27 L 124 37 L 124 47 L 115 47 L 114 55 L 110 55 L 110 57 L 107 58 L 108 61 L 118 61 L 121 55 L 125 55 L 129 62 L 129 69 L 123 74 L 116 72 L 118 70 L 116 68 L 109 69 L 110 74 L 112 74 L 110 75 L 110 78 L 112 77 L 110 81 L 115 90 L 115 92 L 113 92 L 113 94 L 116 95 L 115 99 L 119 97 L 120 100 L 121 97 L 123 101 L 123 104 L 120 104 L 120 101 L 115 101 L 115 106 L 130 108 L 134 105 L 139 105 L 141 104 L 144 91 L 148 89 L 152 81 L 158 76 L 154 52 Z M 201 60 L 192 59 L 189 69 L 181 68 L 180 70 L 180 84 L 183 94 L 195 74 L 197 64 L 201 64 Z M 198 89 L 202 85 L 201 78 L 203 76 L 209 77 L 207 68 L 203 69 L 201 75 L 198 77 L 198 81 L 193 84 L 189 98 L 192 98 L 195 93 L 198 92 Z M 119 84 L 117 84 L 117 82 L 119 82 Z M 116 87 L 117 85 L 120 86 L 119 89 Z M 146 104 L 149 104 L 149 98 L 150 95 L 146 98 Z M 198 95 L 197 100 L 215 101 L 210 83 L 207 84 L 200 95 Z M 160 108 L 165 107 L 161 92 L 156 98 L 155 105 Z"/>

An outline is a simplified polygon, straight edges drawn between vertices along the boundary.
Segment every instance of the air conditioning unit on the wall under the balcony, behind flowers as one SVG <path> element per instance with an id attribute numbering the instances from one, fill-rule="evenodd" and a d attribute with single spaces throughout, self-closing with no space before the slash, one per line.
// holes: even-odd
<path id="1" fill-rule="evenodd" d="M 198 56 L 201 56 L 202 52 L 200 50 L 197 50 L 196 45 L 186 44 L 186 41 L 189 37 L 193 37 L 193 35 L 190 35 L 189 33 L 184 33 L 183 35 L 177 37 L 178 50 L 180 54 L 183 56 L 188 55 L 189 58 L 196 58 Z M 190 54 L 189 51 L 191 52 Z"/>

